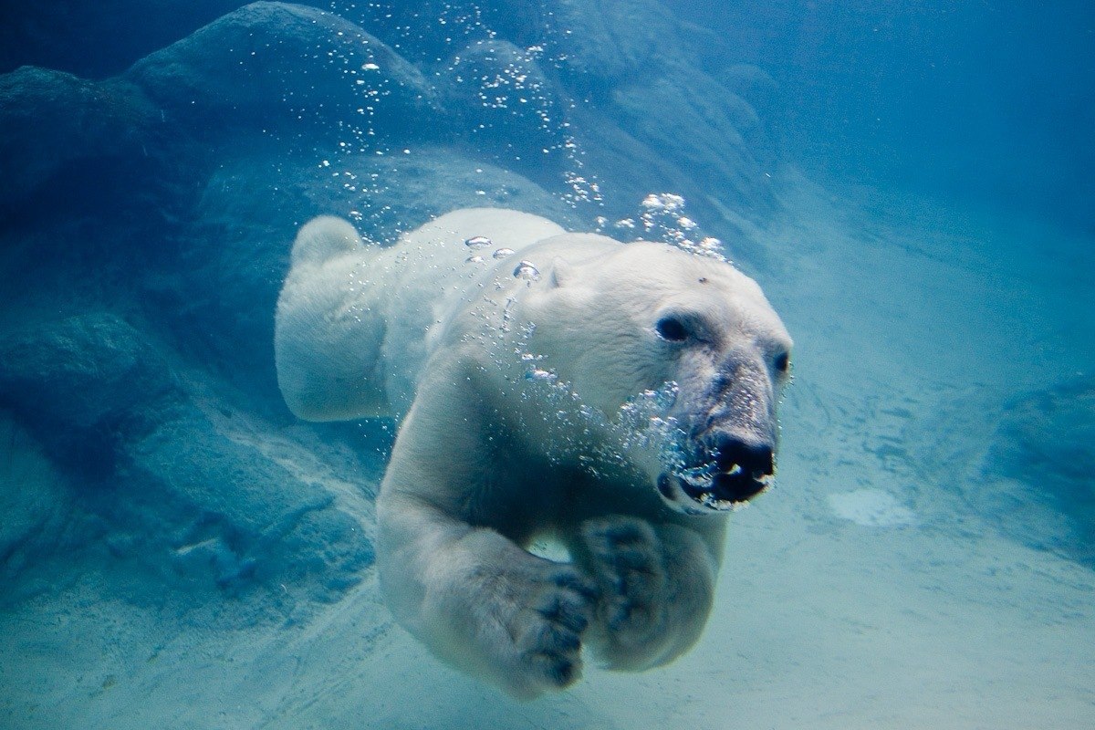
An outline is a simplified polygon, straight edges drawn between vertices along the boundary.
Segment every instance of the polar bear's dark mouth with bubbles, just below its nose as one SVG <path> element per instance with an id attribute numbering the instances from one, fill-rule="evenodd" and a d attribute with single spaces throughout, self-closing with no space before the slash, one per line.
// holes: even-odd
<path id="1" fill-rule="evenodd" d="M 658 477 L 658 491 L 670 505 L 684 512 L 726 512 L 745 507 L 750 499 L 771 487 L 773 478 L 771 472 L 747 471 L 738 464 L 718 468 L 711 463 L 662 473 Z"/>

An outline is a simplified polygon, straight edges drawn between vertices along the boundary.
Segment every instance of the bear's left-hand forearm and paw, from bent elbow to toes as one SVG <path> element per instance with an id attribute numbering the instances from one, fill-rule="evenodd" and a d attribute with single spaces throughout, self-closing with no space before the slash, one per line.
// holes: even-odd
<path id="1" fill-rule="evenodd" d="M 389 605 L 442 659 L 531 698 L 580 675 L 596 588 L 418 500 L 381 500 L 378 564 Z"/>

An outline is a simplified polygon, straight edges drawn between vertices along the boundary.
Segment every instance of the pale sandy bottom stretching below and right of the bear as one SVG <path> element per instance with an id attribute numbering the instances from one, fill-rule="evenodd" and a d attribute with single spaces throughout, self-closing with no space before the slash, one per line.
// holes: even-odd
<path id="1" fill-rule="evenodd" d="M 1054 728 L 1095 721 L 1095 571 L 964 497 L 1002 404 L 1095 362 L 1092 260 L 1035 223 L 810 189 L 762 281 L 796 337 L 779 485 L 734 517 L 696 649 L 529 704 L 440 665 L 370 577 L 214 631 L 89 576 L 0 617 L 13 728 Z M 1061 354 L 1068 357 L 1062 358 Z"/>

